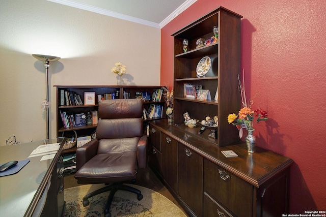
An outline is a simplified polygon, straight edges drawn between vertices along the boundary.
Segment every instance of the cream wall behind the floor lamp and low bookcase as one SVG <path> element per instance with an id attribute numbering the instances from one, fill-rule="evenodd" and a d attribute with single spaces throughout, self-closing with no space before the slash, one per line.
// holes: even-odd
<path id="1" fill-rule="evenodd" d="M 111 68 L 127 66 L 130 85 L 160 84 L 160 29 L 45 0 L 0 1 L 0 145 L 15 135 L 46 137 L 45 68 L 50 64 L 50 137 L 56 137 L 56 84 L 116 85 Z"/>

